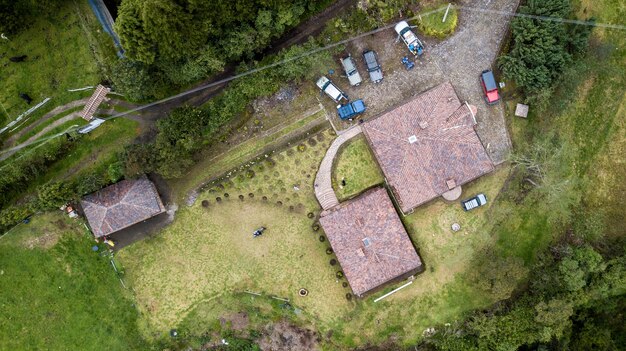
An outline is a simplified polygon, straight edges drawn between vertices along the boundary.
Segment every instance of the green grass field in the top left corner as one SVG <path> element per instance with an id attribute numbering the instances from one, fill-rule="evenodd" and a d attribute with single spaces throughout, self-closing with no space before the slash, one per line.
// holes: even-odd
<path id="1" fill-rule="evenodd" d="M 0 70 L 3 83 L 0 104 L 4 107 L 0 108 L 0 126 L 30 107 L 19 98 L 19 93 L 33 98 L 31 106 L 52 98 L 37 112 L 42 115 L 83 96 L 84 92 L 67 90 L 98 84 L 104 61 L 115 57 L 113 42 L 99 29 L 87 1 L 63 2 L 58 10 L 39 16 L 27 29 L 9 39 L 0 45 L 3 62 L 13 56 L 28 58 L 21 63 L 7 60 L 6 67 Z"/>

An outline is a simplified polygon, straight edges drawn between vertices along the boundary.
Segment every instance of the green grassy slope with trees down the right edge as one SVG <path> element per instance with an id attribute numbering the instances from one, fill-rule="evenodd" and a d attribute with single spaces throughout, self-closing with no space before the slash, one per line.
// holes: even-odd
<path id="1" fill-rule="evenodd" d="M 601 22 L 624 16 L 611 1 L 580 8 Z M 617 156 L 625 146 L 626 51 L 619 32 L 595 29 L 591 43 L 565 68 L 549 104 L 512 121 L 515 171 L 492 215 L 496 254 L 485 258 L 498 267 L 521 259 L 530 272 L 522 280 L 527 286 L 464 324 L 440 327 L 431 340 L 439 349 L 626 345 L 623 323 L 613 322 L 624 313 L 626 293 L 624 211 L 616 196 L 626 187 Z M 497 296 L 507 277 L 480 260 L 476 265 L 478 281 Z"/>

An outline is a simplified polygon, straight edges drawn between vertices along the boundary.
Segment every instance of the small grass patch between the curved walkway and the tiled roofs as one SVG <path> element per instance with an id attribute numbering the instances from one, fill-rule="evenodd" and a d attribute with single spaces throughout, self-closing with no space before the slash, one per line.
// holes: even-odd
<path id="1" fill-rule="evenodd" d="M 359 136 L 344 145 L 335 159 L 333 188 L 340 201 L 358 195 L 363 190 L 382 184 L 383 175 L 374 160 L 365 137 Z M 341 185 L 344 179 L 346 185 Z"/>

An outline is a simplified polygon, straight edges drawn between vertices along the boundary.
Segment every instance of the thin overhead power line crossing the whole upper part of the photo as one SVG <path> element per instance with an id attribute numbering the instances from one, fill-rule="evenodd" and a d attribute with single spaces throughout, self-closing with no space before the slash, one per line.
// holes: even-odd
<path id="1" fill-rule="evenodd" d="M 481 12 L 481 13 L 486 13 L 486 14 L 501 15 L 501 16 L 506 16 L 506 17 L 532 18 L 532 19 L 538 19 L 538 20 L 542 20 L 542 21 L 552 21 L 552 22 L 570 23 L 570 24 L 576 24 L 576 25 L 585 25 L 585 26 L 601 27 L 601 28 L 608 28 L 608 29 L 626 30 L 626 26 L 624 26 L 624 25 L 597 23 L 597 22 L 593 22 L 593 21 L 571 20 L 571 19 L 559 18 L 559 17 L 536 16 L 536 15 L 529 15 L 529 14 L 516 13 L 516 12 L 507 12 L 507 11 L 500 11 L 500 10 L 489 10 L 489 9 L 483 9 L 483 8 L 472 7 L 472 6 L 463 6 L 463 5 L 461 5 L 461 6 L 453 5 L 453 6 L 458 8 L 458 9 L 462 9 L 462 10 Z M 438 9 L 435 9 L 435 10 L 432 10 L 432 11 L 428 11 L 428 12 L 424 12 L 424 13 L 420 13 L 420 14 L 418 14 L 416 16 L 408 18 L 407 21 L 412 21 L 412 20 L 419 19 L 420 16 L 428 16 L 428 15 L 431 15 L 431 14 L 434 14 L 434 13 L 437 13 L 437 12 L 442 12 L 445 9 L 446 9 L 446 6 L 442 6 L 442 7 L 438 8 Z M 291 58 L 288 58 L 288 59 L 284 59 L 282 61 L 278 61 L 278 62 L 269 64 L 269 65 L 266 65 L 266 66 L 263 66 L 263 67 L 255 68 L 255 69 L 252 69 L 252 70 L 249 70 L 249 71 L 246 71 L 246 72 L 234 75 L 234 76 L 230 76 L 230 77 L 227 77 L 227 78 L 224 78 L 224 79 L 212 82 L 212 83 L 208 83 L 208 84 L 205 84 L 205 85 L 193 88 L 193 89 L 189 89 L 189 90 L 184 91 L 182 93 L 179 93 L 179 94 L 176 94 L 176 95 L 173 95 L 173 96 L 161 99 L 161 100 L 157 100 L 157 101 L 151 102 L 151 103 L 146 104 L 146 105 L 138 106 L 138 107 L 135 107 L 133 109 L 130 109 L 130 110 L 127 110 L 127 111 L 124 111 L 124 112 L 120 112 L 120 113 L 115 114 L 113 116 L 102 118 L 102 119 L 104 119 L 105 121 L 108 121 L 108 120 L 111 120 L 111 119 L 114 119 L 114 118 L 124 117 L 126 115 L 131 114 L 131 113 L 135 113 L 135 112 L 138 112 L 138 111 L 141 111 L 141 110 L 144 110 L 144 109 L 156 106 L 156 105 L 160 105 L 160 104 L 168 102 L 168 101 L 172 101 L 174 99 L 181 98 L 183 96 L 187 96 L 187 95 L 190 95 L 190 94 L 202 91 L 202 90 L 206 90 L 206 89 L 212 88 L 212 87 L 217 86 L 217 85 L 228 83 L 228 82 L 230 82 L 232 80 L 235 80 L 235 79 L 238 79 L 238 78 L 241 78 L 241 77 L 245 77 L 245 76 L 248 76 L 248 75 L 251 75 L 251 74 L 254 74 L 254 73 L 258 73 L 258 72 L 261 72 L 261 71 L 264 71 L 264 70 L 267 70 L 267 69 L 270 69 L 270 68 L 273 68 L 273 67 L 277 67 L 277 66 L 280 66 L 280 65 L 283 65 L 283 64 L 295 61 L 295 60 L 299 60 L 299 59 L 301 59 L 303 57 L 314 55 L 314 54 L 317 54 L 319 52 L 326 51 L 326 50 L 332 49 L 334 47 L 347 44 L 347 43 L 349 43 L 351 41 L 354 41 L 354 40 L 357 40 L 357 39 L 361 39 L 361 38 L 364 38 L 366 36 L 370 36 L 370 35 L 373 35 L 373 34 L 376 34 L 376 33 L 382 32 L 382 31 L 385 31 L 387 29 L 393 28 L 395 25 L 396 25 L 396 23 L 389 24 L 389 25 L 386 25 L 386 26 L 374 29 L 372 31 L 359 34 L 357 36 L 354 36 L 354 37 L 351 37 L 351 38 L 348 38 L 348 39 L 344 39 L 344 40 L 338 41 L 338 42 L 333 43 L 333 44 L 326 45 L 324 47 L 320 47 L 320 48 L 317 48 L 317 49 L 313 49 L 313 50 L 307 51 L 307 52 L 305 52 L 303 54 L 300 54 L 300 55 L 297 55 L 297 56 L 294 56 L 294 57 L 291 57 Z M 70 129 L 70 130 L 67 130 L 66 132 L 73 131 L 73 130 L 75 130 L 77 128 L 78 127 Z M 37 139 L 37 140 L 34 140 L 34 141 L 32 141 L 32 142 L 30 142 L 28 144 L 20 144 L 20 145 L 14 147 L 14 148 L 0 151 L 0 155 L 3 154 L 3 153 L 11 152 L 11 151 L 18 151 L 18 150 L 20 150 L 20 149 L 22 149 L 24 147 L 28 147 L 30 145 L 33 145 L 33 144 L 36 144 L 36 143 L 39 143 L 39 142 L 42 142 L 42 141 L 46 141 L 46 140 L 48 140 L 50 138 L 58 137 L 58 136 L 59 135 L 55 135 L 55 136 L 47 137 L 47 138 L 44 138 L 44 139 Z"/>

